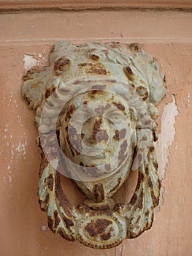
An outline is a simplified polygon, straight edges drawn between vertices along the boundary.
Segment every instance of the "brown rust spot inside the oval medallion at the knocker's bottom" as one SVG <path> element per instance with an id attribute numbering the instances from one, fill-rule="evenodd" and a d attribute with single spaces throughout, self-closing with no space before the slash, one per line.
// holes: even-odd
<path id="1" fill-rule="evenodd" d="M 85 231 L 88 232 L 89 236 L 99 236 L 101 241 L 107 241 L 111 238 L 112 227 L 106 232 L 109 225 L 112 225 L 112 221 L 108 219 L 96 219 L 95 222 L 91 222 L 85 227 Z"/>

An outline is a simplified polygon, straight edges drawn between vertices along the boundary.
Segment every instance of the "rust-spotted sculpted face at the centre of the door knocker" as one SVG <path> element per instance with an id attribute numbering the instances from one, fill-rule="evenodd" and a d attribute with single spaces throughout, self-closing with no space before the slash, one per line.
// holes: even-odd
<path id="1" fill-rule="evenodd" d="M 125 99 L 108 91 L 87 91 L 71 99 L 62 113 L 61 148 L 68 159 L 101 173 L 126 162 L 135 127 Z"/>

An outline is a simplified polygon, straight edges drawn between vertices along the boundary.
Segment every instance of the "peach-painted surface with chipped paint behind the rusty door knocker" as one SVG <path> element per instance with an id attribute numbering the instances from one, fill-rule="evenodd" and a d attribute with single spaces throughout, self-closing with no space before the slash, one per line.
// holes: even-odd
<path id="1" fill-rule="evenodd" d="M 184 11 L 1 13 L 1 256 L 192 255 L 191 28 L 191 12 Z M 166 98 L 158 106 L 161 206 L 150 230 L 117 248 L 98 251 L 65 241 L 47 228 L 47 216 L 37 203 L 38 132 L 34 112 L 21 99 L 20 89 L 26 69 L 32 64 L 46 65 L 58 39 L 139 42 L 166 75 Z M 62 181 L 72 203 L 82 202 L 82 195 L 67 178 Z M 131 181 L 128 185 L 133 186 Z M 128 200 L 126 191 L 123 186 L 118 200 Z"/>

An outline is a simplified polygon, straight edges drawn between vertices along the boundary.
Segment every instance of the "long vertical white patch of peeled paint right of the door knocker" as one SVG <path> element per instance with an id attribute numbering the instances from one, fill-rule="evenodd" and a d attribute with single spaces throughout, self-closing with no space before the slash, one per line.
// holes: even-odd
<path id="1" fill-rule="evenodd" d="M 178 115 L 177 105 L 173 101 L 164 107 L 161 117 L 161 133 L 158 136 L 157 157 L 158 157 L 158 175 L 160 179 L 165 178 L 166 165 L 169 162 L 169 146 L 172 145 L 175 135 L 175 117 Z"/>

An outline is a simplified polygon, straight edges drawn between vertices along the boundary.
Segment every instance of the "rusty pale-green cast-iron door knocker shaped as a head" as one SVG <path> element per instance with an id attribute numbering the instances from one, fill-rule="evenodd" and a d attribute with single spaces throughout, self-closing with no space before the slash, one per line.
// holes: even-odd
<path id="1" fill-rule="evenodd" d="M 137 44 L 58 42 L 50 67 L 24 76 L 22 93 L 37 110 L 39 204 L 50 229 L 98 249 L 149 229 L 161 187 L 155 105 L 165 89 L 157 62 Z M 130 170 L 139 170 L 134 195 L 115 203 Z M 64 195 L 59 173 L 84 193 L 80 206 Z"/>

